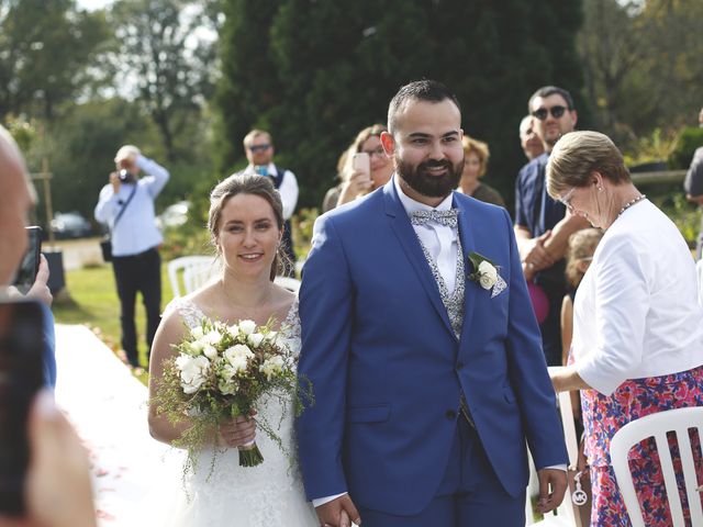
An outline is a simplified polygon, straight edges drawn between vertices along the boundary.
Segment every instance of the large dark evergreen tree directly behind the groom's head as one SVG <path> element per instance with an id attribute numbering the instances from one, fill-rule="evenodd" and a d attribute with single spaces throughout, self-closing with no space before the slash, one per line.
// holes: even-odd
<path id="1" fill-rule="evenodd" d="M 546 83 L 574 93 L 582 86 L 579 0 L 247 3 L 225 3 L 220 143 L 238 146 L 255 125 L 270 130 L 277 158 L 299 177 L 302 205 L 320 203 L 356 133 L 386 122 L 398 88 L 423 77 L 457 93 L 465 131 L 489 142 L 491 181 L 510 201 L 528 97 Z M 241 153 L 221 149 L 223 165 Z"/>

